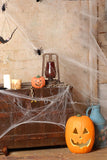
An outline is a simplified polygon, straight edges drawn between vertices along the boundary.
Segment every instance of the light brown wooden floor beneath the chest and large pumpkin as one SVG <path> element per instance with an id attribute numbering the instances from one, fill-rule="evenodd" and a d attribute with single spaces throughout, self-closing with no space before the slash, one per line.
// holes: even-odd
<path id="1" fill-rule="evenodd" d="M 73 154 L 68 148 L 20 150 L 0 155 L 0 160 L 107 160 L 107 148 L 87 154 Z"/>

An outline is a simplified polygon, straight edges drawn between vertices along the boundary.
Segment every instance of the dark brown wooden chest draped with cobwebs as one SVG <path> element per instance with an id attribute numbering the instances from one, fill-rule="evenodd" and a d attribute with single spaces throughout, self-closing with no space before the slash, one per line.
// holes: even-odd
<path id="1" fill-rule="evenodd" d="M 65 145 L 72 87 L 0 91 L 0 150 Z"/>

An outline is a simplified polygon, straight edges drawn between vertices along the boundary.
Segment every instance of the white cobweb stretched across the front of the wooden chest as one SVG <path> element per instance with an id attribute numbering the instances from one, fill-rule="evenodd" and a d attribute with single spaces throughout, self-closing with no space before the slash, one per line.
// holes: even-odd
<path id="1" fill-rule="evenodd" d="M 33 91 L 35 94 L 35 91 Z M 37 91 L 38 92 L 38 91 Z M 57 95 L 54 95 L 50 89 L 49 97 L 32 97 L 31 90 L 23 90 L 23 93 L 13 91 L 0 91 L 1 113 L 7 112 L 10 114 L 8 128 L 7 125 L 2 125 L 1 138 L 13 128 L 26 123 L 49 123 L 65 127 L 66 122 L 66 105 L 72 103 L 72 95 L 70 87 L 58 88 Z M 42 105 L 40 105 L 42 103 Z M 34 107 L 33 107 L 34 106 Z M 35 107 L 36 106 L 36 107 Z M 16 120 L 11 122 L 16 113 Z M 18 117 L 18 114 L 20 116 Z M 57 116 L 57 118 L 56 118 Z"/>

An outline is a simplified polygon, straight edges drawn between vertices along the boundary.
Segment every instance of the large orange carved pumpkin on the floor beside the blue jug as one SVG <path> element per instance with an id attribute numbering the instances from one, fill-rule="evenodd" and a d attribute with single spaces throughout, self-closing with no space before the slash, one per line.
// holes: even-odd
<path id="1" fill-rule="evenodd" d="M 65 139 L 73 153 L 87 153 L 92 150 L 95 140 L 95 129 L 88 116 L 72 116 L 68 119 Z"/>

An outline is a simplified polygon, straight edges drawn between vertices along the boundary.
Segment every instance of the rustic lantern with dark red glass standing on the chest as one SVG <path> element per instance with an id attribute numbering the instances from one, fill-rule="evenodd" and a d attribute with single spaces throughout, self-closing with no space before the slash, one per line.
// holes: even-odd
<path id="1" fill-rule="evenodd" d="M 43 54 L 42 76 L 47 84 L 60 82 L 58 55 L 53 53 Z"/>

